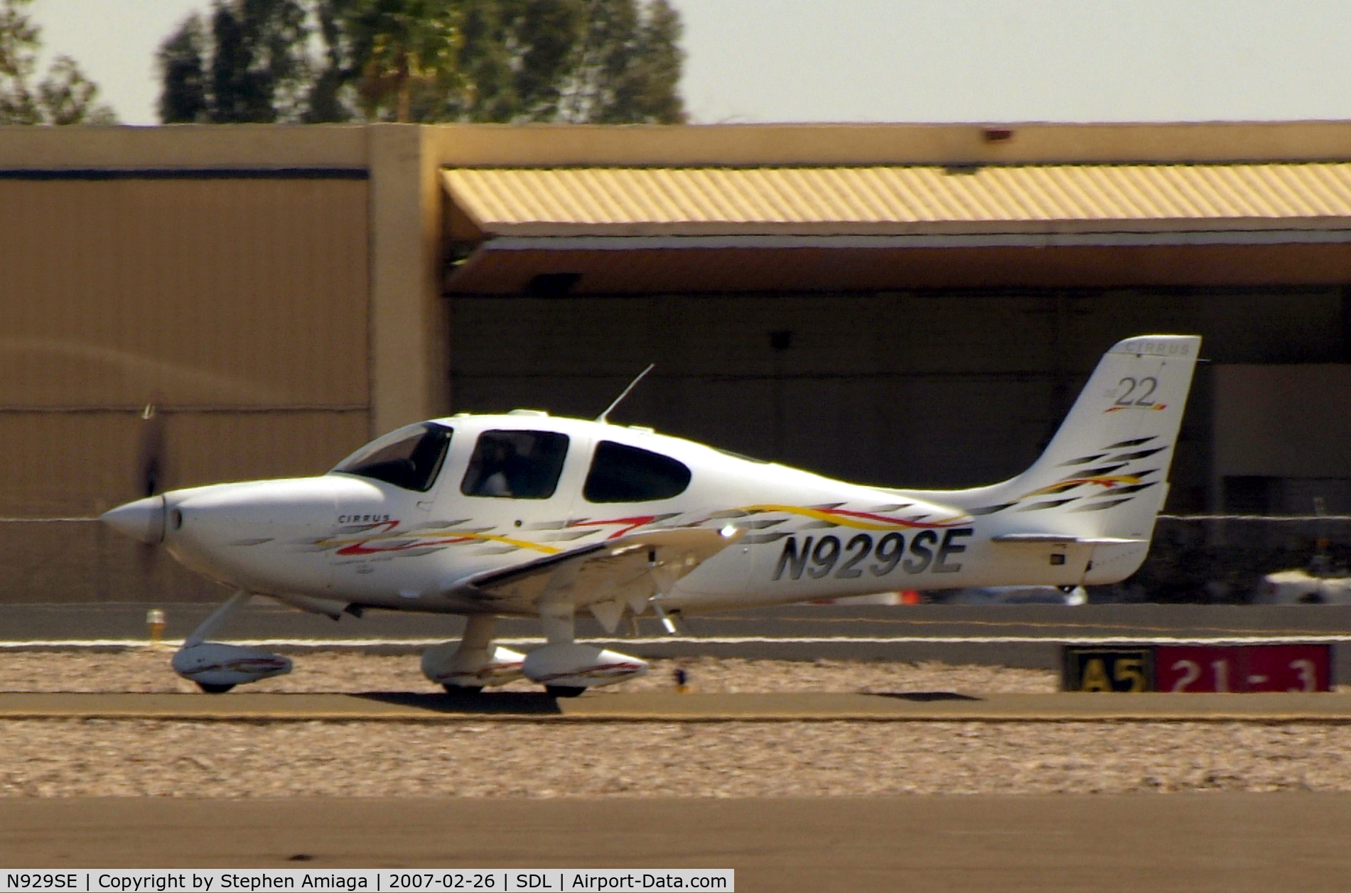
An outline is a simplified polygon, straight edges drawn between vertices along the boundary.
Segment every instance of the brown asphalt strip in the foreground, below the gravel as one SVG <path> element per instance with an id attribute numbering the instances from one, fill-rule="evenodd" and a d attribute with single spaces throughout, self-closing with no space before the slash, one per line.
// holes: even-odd
<path id="1" fill-rule="evenodd" d="M 186 793 L 186 792 L 185 792 Z M 701 867 L 740 893 L 1344 890 L 1351 794 L 7 798 L 4 867 Z"/>

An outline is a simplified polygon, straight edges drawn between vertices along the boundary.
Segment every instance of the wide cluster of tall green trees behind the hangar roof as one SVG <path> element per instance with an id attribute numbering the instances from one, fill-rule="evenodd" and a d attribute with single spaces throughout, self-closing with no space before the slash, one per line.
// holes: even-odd
<path id="1" fill-rule="evenodd" d="M 308 20 L 301 1 L 216 0 L 209 35 L 186 20 L 161 45 L 161 118 L 685 120 L 667 0 L 305 0 Z M 313 59 L 300 49 L 309 22 L 323 45 Z M 259 30 L 273 35 L 266 54 L 251 49 Z M 266 59 L 282 59 L 286 77 L 259 81 Z"/>

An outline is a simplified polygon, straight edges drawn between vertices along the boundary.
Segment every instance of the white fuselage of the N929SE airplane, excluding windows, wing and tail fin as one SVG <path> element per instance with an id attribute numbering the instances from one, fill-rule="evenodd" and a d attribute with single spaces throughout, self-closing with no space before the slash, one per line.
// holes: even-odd
<path id="1" fill-rule="evenodd" d="M 449 449 L 426 492 L 332 471 L 173 490 L 132 505 L 162 512 L 163 544 L 220 582 L 389 609 L 482 611 L 457 594 L 458 581 L 638 530 L 688 527 L 743 531 L 661 597 L 667 609 L 690 613 L 893 589 L 1073 586 L 1089 577 L 1092 547 L 1009 548 L 992 542 L 1008 527 L 1002 519 L 680 438 L 546 416 L 435 424 L 450 432 Z M 466 493 L 476 443 L 486 431 L 563 435 L 566 455 L 553 492 Z M 670 499 L 592 501 L 586 481 L 600 443 L 673 459 L 690 470 L 689 482 Z M 494 607 L 496 613 L 536 611 L 524 603 Z"/>

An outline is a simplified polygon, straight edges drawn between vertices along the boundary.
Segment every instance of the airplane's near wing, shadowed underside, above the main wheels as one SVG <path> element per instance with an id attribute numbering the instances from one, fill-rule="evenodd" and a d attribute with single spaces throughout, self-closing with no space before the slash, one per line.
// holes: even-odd
<path id="1" fill-rule="evenodd" d="M 534 613 L 547 586 L 570 586 L 573 604 L 611 631 L 628 605 L 639 613 L 653 596 L 669 592 L 684 576 L 744 534 L 740 528 L 654 530 L 581 546 L 512 567 L 459 581 L 453 593 L 503 613 Z"/>

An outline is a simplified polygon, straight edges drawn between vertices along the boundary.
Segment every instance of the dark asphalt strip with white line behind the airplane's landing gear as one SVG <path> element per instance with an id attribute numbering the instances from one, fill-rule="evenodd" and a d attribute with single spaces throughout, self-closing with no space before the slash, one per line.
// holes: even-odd
<path id="1" fill-rule="evenodd" d="M 215 605 L 192 603 L 7 604 L 0 651 L 128 647 L 146 642 L 146 611 L 168 616 L 169 642 L 188 635 Z M 350 648 L 422 651 L 458 639 L 461 617 L 367 611 L 339 621 L 258 598 L 218 634 L 285 653 Z M 681 635 L 644 620 L 636 639 L 605 636 L 589 616 L 578 635 L 643 658 L 724 657 L 808 661 L 942 661 L 1056 669 L 1067 642 L 1351 642 L 1351 605 L 786 605 L 690 617 Z M 539 623 L 504 619 L 504 644 L 542 642 Z M 1336 678 L 1351 678 L 1351 647 L 1336 651 Z"/>

